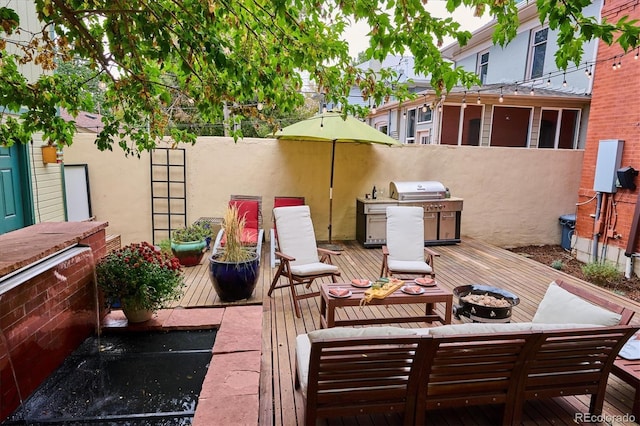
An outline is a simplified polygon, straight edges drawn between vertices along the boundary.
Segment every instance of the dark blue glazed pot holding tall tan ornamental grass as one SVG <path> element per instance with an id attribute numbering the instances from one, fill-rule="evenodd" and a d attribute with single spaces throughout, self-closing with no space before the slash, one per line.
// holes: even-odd
<path id="1" fill-rule="evenodd" d="M 242 244 L 244 224 L 238 208 L 229 206 L 222 224 L 224 249 L 209 257 L 209 279 L 223 302 L 248 299 L 258 282 L 260 257 L 255 247 Z"/>

